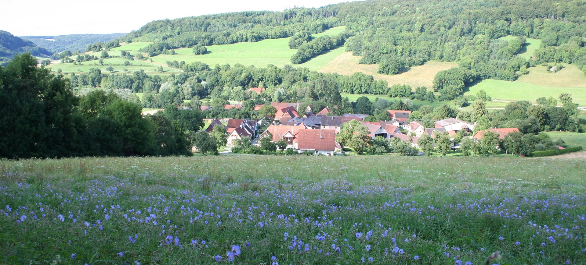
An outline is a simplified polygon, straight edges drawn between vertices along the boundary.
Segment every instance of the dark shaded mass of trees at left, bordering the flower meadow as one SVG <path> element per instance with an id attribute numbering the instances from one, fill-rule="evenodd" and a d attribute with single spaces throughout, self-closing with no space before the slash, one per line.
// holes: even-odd
<path id="1" fill-rule="evenodd" d="M 94 73 L 95 74 L 95 73 Z M 76 97 L 62 75 L 29 54 L 0 67 L 0 157 L 189 155 L 202 112 L 169 106 L 154 116 L 112 92 Z"/>

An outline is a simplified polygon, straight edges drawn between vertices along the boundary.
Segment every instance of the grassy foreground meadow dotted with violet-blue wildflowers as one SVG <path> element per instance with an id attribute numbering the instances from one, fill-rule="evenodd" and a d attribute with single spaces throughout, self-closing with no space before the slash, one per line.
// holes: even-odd
<path id="1" fill-rule="evenodd" d="M 0 264 L 586 264 L 586 163 L 0 160 Z"/>

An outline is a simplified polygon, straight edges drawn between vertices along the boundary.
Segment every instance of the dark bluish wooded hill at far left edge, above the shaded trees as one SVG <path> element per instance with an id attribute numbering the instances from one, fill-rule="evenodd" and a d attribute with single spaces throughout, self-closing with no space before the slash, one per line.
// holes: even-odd
<path id="1" fill-rule="evenodd" d="M 19 37 L 12 35 L 10 32 L 0 30 L 0 66 L 8 63 L 10 60 L 8 57 L 14 55 L 14 53 L 30 53 L 33 56 L 49 56 L 49 51 L 42 47 L 36 46 L 35 43 L 29 40 L 23 40 Z"/>

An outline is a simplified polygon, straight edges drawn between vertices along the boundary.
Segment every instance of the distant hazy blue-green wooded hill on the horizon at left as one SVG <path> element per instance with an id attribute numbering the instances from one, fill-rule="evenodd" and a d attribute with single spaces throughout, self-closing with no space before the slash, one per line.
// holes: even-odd
<path id="1" fill-rule="evenodd" d="M 81 51 L 86 46 L 96 42 L 110 42 L 118 37 L 125 36 L 125 33 L 112 34 L 70 34 L 59 36 L 21 36 L 22 39 L 30 40 L 32 43 L 49 50 L 51 53 L 60 53 L 65 50 Z"/>

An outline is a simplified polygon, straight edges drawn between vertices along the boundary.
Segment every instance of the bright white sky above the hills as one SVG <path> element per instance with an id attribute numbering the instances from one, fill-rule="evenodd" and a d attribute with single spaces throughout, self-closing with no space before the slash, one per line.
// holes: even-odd
<path id="1" fill-rule="evenodd" d="M 15 36 L 128 33 L 152 20 L 240 11 L 319 8 L 343 0 L 0 0 L 0 30 Z"/>

